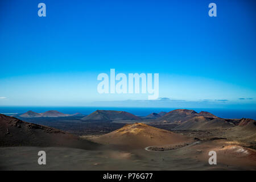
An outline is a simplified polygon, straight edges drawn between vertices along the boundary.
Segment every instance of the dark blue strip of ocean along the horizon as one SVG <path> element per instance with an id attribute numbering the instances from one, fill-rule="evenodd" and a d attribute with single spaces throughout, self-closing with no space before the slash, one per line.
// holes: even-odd
<path id="1" fill-rule="evenodd" d="M 159 113 L 160 111 L 169 112 L 174 109 L 181 108 L 150 108 L 150 107 L 68 107 L 68 106 L 0 106 L 1 114 L 16 114 L 26 113 L 28 110 L 35 111 L 36 113 L 43 113 L 48 110 L 57 110 L 65 114 L 90 114 L 96 110 L 120 110 L 127 111 L 129 113 L 145 116 L 150 113 Z M 193 109 L 193 108 L 182 108 L 182 109 Z M 195 108 L 193 109 L 198 113 L 200 111 L 208 111 L 221 118 L 251 118 L 256 119 L 256 110 L 245 110 L 245 109 L 212 109 L 212 108 Z"/>

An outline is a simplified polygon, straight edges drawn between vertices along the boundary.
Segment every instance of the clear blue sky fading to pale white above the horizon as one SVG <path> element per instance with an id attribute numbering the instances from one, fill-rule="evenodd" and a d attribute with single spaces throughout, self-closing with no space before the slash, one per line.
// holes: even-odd
<path id="1" fill-rule="evenodd" d="M 159 73 L 170 105 L 256 109 L 255 14 L 254 1 L 1 1 L 0 105 L 147 100 L 98 94 L 97 75 L 115 68 Z"/>

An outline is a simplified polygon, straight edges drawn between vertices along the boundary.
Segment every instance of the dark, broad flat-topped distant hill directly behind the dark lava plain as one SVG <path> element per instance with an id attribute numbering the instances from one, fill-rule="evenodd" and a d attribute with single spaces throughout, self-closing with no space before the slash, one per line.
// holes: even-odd
<path id="1" fill-rule="evenodd" d="M 120 120 L 138 120 L 141 118 L 134 114 L 127 113 L 125 111 L 115 111 L 115 110 L 96 110 L 93 113 L 83 117 L 84 121 L 120 121 Z"/>

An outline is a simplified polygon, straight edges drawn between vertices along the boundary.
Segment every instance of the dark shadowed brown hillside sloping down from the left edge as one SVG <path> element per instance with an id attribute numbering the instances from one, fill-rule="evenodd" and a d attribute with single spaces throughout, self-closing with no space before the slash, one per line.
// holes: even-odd
<path id="1" fill-rule="evenodd" d="M 0 114 L 0 146 L 62 146 L 92 149 L 97 144 L 51 127 Z"/>

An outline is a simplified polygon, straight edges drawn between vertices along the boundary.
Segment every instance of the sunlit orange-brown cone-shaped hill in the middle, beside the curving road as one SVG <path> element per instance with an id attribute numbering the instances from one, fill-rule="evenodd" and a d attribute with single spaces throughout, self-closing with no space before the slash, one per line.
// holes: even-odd
<path id="1" fill-rule="evenodd" d="M 121 129 L 95 137 L 92 140 L 97 143 L 113 144 L 127 148 L 144 148 L 147 146 L 161 146 L 192 141 L 191 138 L 183 135 L 143 123 L 125 125 Z"/>

